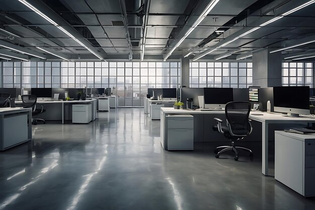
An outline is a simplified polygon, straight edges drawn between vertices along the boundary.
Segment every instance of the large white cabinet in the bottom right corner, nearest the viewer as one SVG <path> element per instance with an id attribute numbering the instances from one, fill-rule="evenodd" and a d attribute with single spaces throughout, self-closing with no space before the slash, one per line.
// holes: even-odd
<path id="1" fill-rule="evenodd" d="M 275 131 L 275 179 L 315 196 L 315 135 Z"/>

